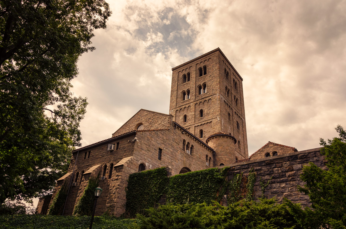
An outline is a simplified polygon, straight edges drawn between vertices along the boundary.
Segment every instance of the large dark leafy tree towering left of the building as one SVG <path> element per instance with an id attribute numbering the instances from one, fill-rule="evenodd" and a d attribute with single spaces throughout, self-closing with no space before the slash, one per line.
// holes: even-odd
<path id="1" fill-rule="evenodd" d="M 70 82 L 110 15 L 104 0 L 0 1 L 0 203 L 45 195 L 67 170 L 87 105 Z"/>

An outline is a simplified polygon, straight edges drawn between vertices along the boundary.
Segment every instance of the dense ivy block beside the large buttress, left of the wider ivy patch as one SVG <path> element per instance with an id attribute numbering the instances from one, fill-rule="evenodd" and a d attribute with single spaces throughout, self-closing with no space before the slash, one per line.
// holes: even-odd
<path id="1" fill-rule="evenodd" d="M 126 191 L 126 212 L 130 216 L 155 206 L 164 194 L 168 177 L 165 167 L 130 174 Z"/>

